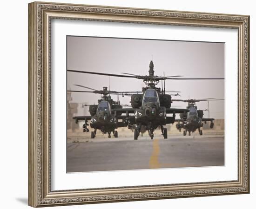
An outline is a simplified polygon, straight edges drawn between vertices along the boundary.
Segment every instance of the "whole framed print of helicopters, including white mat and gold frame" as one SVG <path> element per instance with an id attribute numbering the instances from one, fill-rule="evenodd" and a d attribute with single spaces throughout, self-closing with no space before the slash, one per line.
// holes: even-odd
<path id="1" fill-rule="evenodd" d="M 249 16 L 28 5 L 30 206 L 249 193 Z"/>

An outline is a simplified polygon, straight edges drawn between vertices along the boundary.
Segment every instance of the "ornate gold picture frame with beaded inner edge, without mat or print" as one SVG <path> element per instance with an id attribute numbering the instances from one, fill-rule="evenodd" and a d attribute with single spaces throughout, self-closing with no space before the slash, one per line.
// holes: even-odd
<path id="1" fill-rule="evenodd" d="M 237 29 L 237 180 L 52 190 L 50 31 L 51 21 L 54 19 Z M 249 16 L 46 2 L 30 3 L 28 4 L 28 112 L 28 204 L 30 206 L 249 193 Z"/>

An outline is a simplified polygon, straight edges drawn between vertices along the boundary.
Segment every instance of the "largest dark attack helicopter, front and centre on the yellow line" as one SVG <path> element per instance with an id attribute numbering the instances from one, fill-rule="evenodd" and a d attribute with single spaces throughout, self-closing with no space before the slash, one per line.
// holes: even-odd
<path id="1" fill-rule="evenodd" d="M 134 131 L 134 139 L 137 140 L 140 135 L 141 127 L 146 127 L 149 136 L 151 139 L 154 137 L 154 131 L 157 127 L 160 126 L 162 135 L 164 138 L 167 138 L 167 129 L 163 126 L 166 124 L 173 124 L 175 122 L 175 114 L 183 113 L 186 115 L 188 109 L 176 109 L 171 107 L 171 95 L 165 93 L 165 87 L 161 88 L 156 87 L 160 80 L 164 81 L 166 79 L 224 79 L 224 78 L 178 78 L 182 76 L 155 76 L 154 75 L 154 64 L 153 61 L 150 61 L 149 64 L 149 75 L 135 75 L 131 73 L 123 73 L 125 75 L 119 74 L 110 74 L 110 73 L 101 73 L 101 72 L 86 72 L 86 71 L 77 71 L 77 70 L 67 70 L 68 72 L 79 72 L 79 73 L 89 73 L 96 75 L 105 75 L 105 76 L 114 76 L 122 78 L 137 78 L 142 79 L 146 87 L 142 87 L 142 94 L 136 93 L 131 95 L 131 105 L 133 108 L 126 109 L 116 109 L 115 114 L 127 113 L 128 118 L 128 128 L 131 124 L 136 124 L 136 131 Z M 134 113 L 134 116 L 129 117 L 129 113 Z M 167 117 L 167 114 L 173 114 L 172 117 Z M 184 119 L 185 120 L 185 119 Z"/>

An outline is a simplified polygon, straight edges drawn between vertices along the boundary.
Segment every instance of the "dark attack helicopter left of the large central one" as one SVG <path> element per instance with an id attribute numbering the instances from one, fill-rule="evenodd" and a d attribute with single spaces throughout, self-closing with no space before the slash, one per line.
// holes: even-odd
<path id="1" fill-rule="evenodd" d="M 119 91 L 108 91 L 107 87 L 103 87 L 103 90 L 95 90 L 83 85 L 76 85 L 80 86 L 83 88 L 87 88 L 90 90 L 94 91 L 71 91 L 71 92 L 88 92 L 88 93 L 96 93 L 96 94 L 101 94 L 101 99 L 98 100 L 98 104 L 83 104 L 82 107 L 84 106 L 89 106 L 89 113 L 90 116 L 76 116 L 73 117 L 75 119 L 75 123 L 78 123 L 79 120 L 83 120 L 83 132 L 88 132 L 89 129 L 87 128 L 88 120 L 91 121 L 90 127 L 94 128 L 94 131 L 91 132 L 91 138 L 94 138 L 96 135 L 97 129 L 101 130 L 103 134 L 108 133 L 108 137 L 111 137 L 111 132 L 113 132 L 115 137 L 118 137 L 118 132 L 115 131 L 116 128 L 118 127 L 125 127 L 128 125 L 127 119 L 125 116 L 121 116 L 121 113 L 113 114 L 113 111 L 115 109 L 121 109 L 122 106 L 120 104 L 120 101 L 118 100 L 117 102 L 114 101 L 111 97 L 110 94 L 127 94 L 127 93 L 132 93 L 132 92 L 119 92 Z M 124 109 L 125 110 L 125 109 Z M 118 122 L 118 119 L 122 119 L 122 122 Z"/>

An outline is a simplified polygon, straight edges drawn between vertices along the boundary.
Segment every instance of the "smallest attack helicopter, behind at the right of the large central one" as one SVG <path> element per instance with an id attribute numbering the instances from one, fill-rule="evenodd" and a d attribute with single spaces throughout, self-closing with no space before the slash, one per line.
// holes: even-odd
<path id="1" fill-rule="evenodd" d="M 189 131 L 189 136 L 191 135 L 191 132 L 194 133 L 196 129 L 198 129 L 199 134 L 202 135 L 202 130 L 200 129 L 203 125 L 203 122 L 206 124 L 207 121 L 210 121 L 210 128 L 212 129 L 214 126 L 214 118 L 203 118 L 203 111 L 207 110 L 197 110 L 197 106 L 195 106 L 196 102 L 201 101 L 211 101 L 211 99 L 214 100 L 214 98 L 203 98 L 203 99 L 173 99 L 172 101 L 176 102 L 188 102 L 187 109 L 189 109 L 189 112 L 187 112 L 187 115 L 184 116 L 184 114 L 180 114 L 181 119 L 176 119 L 175 122 L 178 122 L 176 124 L 177 130 L 181 131 L 183 128 L 183 135 L 187 135 L 187 131 Z M 220 99 L 217 99 L 220 100 Z M 183 118 L 186 118 L 187 121 L 183 123 Z M 181 123 L 182 122 L 182 123 Z"/>

